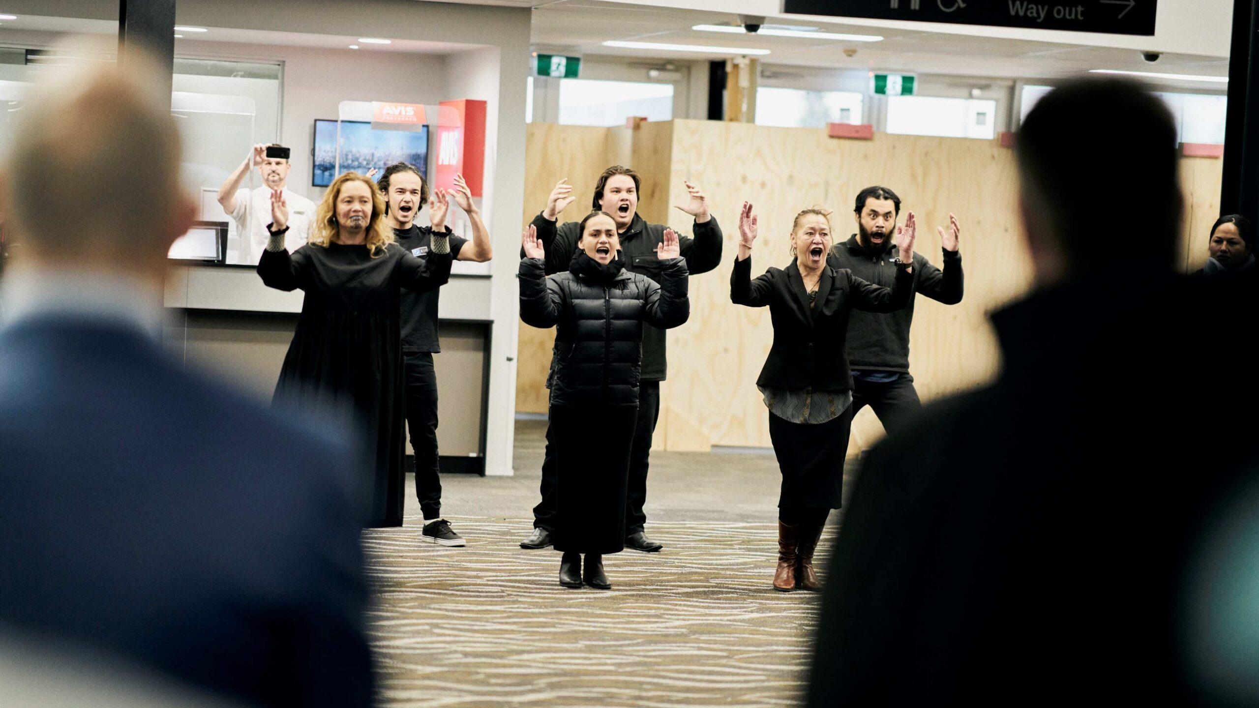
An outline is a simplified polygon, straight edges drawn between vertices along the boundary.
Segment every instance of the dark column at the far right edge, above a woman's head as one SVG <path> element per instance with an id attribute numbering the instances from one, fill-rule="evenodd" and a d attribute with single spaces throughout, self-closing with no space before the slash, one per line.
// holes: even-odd
<path id="1" fill-rule="evenodd" d="M 1259 217 L 1259 0 L 1233 1 L 1221 214 Z"/>

